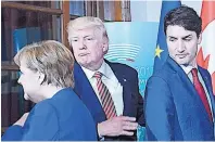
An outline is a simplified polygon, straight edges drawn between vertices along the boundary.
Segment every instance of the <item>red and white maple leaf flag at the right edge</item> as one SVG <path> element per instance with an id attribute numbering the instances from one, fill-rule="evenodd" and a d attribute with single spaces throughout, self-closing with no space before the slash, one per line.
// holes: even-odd
<path id="1" fill-rule="evenodd" d="M 215 94 L 215 1 L 202 1 L 201 17 L 202 41 L 197 55 L 197 62 L 210 72 Z"/>

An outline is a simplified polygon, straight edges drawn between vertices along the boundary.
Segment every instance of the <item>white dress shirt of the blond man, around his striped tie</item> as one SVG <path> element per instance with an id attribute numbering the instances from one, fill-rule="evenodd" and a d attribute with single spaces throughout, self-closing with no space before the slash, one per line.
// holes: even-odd
<path id="1" fill-rule="evenodd" d="M 102 76 L 102 82 L 108 87 L 111 96 L 113 99 L 115 108 L 116 108 L 116 114 L 117 116 L 123 115 L 123 109 L 124 109 L 124 103 L 123 103 L 123 87 L 121 86 L 121 83 L 118 82 L 116 76 L 114 75 L 113 70 L 111 69 L 111 67 L 103 62 L 101 67 L 96 70 L 92 72 L 90 69 L 87 69 L 85 67 L 83 67 L 84 73 L 86 74 L 89 82 L 91 83 L 91 87 L 93 88 L 100 103 L 100 95 L 99 95 L 99 91 L 97 88 L 97 78 L 93 77 L 96 72 L 100 72 L 103 74 Z"/>

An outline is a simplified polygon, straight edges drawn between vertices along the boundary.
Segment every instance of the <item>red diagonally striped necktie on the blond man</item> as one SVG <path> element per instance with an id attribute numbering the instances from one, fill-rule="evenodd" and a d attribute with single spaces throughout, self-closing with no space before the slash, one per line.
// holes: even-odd
<path id="1" fill-rule="evenodd" d="M 99 95 L 102 102 L 102 107 L 104 109 L 106 118 L 110 119 L 112 117 L 115 117 L 116 116 L 115 105 L 112 100 L 111 93 L 109 92 L 109 89 L 101 80 L 102 74 L 100 72 L 96 72 L 93 77 L 97 78 L 97 88 L 99 91 Z"/>

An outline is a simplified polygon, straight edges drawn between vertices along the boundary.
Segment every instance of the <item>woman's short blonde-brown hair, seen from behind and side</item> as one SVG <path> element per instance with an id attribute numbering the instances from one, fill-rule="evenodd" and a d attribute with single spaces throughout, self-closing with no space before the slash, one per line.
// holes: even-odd
<path id="1" fill-rule="evenodd" d="M 25 46 L 14 56 L 14 62 L 21 66 L 25 60 L 27 68 L 45 74 L 42 83 L 55 87 L 74 87 L 74 56 L 62 43 L 46 40 Z"/>

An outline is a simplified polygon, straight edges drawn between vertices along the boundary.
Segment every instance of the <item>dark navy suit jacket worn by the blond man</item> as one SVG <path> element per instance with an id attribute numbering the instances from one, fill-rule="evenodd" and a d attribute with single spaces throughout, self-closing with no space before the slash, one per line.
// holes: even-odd
<path id="1" fill-rule="evenodd" d="M 105 61 L 119 83 L 123 86 L 124 116 L 132 116 L 137 118 L 139 125 L 144 125 L 143 118 L 143 101 L 139 93 L 138 74 L 137 72 L 124 64 L 111 63 Z M 81 67 L 76 63 L 74 66 L 75 92 L 80 96 L 83 102 L 90 111 L 96 124 L 106 120 L 102 105 L 100 104 L 96 92 L 93 91 L 87 76 Z M 136 133 L 132 137 L 105 137 L 104 140 L 137 140 Z"/>

